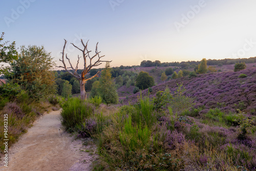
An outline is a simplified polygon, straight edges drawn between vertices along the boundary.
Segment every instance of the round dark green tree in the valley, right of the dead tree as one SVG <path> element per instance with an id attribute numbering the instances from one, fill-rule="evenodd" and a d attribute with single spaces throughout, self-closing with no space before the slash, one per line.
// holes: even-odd
<path id="1" fill-rule="evenodd" d="M 154 78 L 148 75 L 147 72 L 141 71 L 136 78 L 135 86 L 138 87 L 140 90 L 145 90 L 149 87 L 153 87 L 155 85 Z"/>

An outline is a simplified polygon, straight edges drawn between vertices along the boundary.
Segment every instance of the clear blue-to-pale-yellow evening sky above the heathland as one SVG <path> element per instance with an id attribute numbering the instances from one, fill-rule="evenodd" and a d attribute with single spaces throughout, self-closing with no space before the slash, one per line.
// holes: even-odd
<path id="1" fill-rule="evenodd" d="M 255 0 L 1 0 L 5 40 L 44 45 L 57 61 L 64 38 L 76 64 L 79 39 L 111 66 L 256 56 Z M 104 67 L 103 65 L 100 67 Z"/>

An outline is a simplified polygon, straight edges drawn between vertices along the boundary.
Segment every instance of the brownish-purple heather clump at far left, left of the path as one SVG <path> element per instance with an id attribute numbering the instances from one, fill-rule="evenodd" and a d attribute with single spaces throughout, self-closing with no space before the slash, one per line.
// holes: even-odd
<path id="1" fill-rule="evenodd" d="M 22 111 L 19 105 L 15 102 L 8 102 L 4 107 L 4 113 L 14 114 L 18 119 L 22 119 L 26 114 Z"/>

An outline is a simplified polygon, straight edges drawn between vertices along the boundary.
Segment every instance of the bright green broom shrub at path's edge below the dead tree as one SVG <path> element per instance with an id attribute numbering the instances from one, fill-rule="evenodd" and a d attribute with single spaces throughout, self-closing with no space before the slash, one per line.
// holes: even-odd
<path id="1" fill-rule="evenodd" d="M 76 125 L 80 125 L 83 119 L 94 113 L 92 104 L 83 102 L 78 98 L 69 98 L 63 105 L 61 111 L 61 123 L 68 131 L 74 131 Z"/>

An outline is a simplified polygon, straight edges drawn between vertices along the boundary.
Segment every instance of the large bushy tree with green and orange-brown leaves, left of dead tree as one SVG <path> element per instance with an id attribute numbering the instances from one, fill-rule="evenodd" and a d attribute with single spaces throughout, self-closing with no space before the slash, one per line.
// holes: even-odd
<path id="1" fill-rule="evenodd" d="M 22 46 L 18 59 L 10 63 L 7 76 L 18 83 L 34 99 L 45 98 L 56 91 L 55 76 L 52 72 L 55 63 L 44 47 Z"/>

